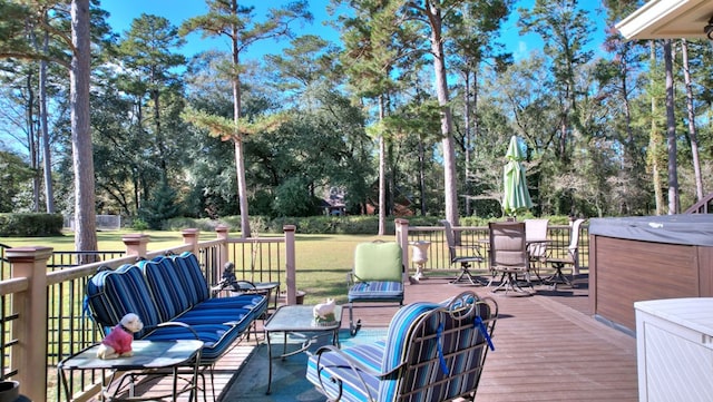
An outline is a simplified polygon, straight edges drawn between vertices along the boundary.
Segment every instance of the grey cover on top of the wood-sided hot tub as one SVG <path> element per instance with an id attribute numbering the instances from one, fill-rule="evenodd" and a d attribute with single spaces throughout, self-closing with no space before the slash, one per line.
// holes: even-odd
<path id="1" fill-rule="evenodd" d="M 589 234 L 643 242 L 713 246 L 713 214 L 593 218 Z"/>

